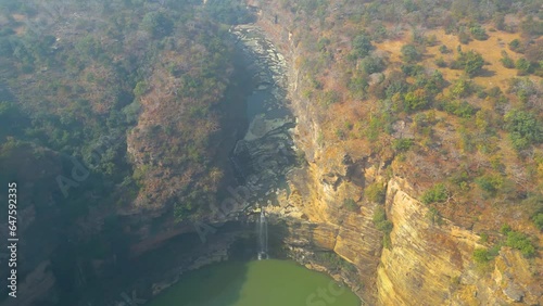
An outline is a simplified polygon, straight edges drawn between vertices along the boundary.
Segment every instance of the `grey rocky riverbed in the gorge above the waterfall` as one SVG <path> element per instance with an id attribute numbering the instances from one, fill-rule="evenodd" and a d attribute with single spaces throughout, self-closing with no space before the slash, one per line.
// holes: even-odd
<path id="1" fill-rule="evenodd" d="M 250 205 L 277 204 L 277 193 L 287 186 L 285 177 L 296 164 L 291 137 L 295 119 L 287 106 L 287 64 L 257 27 L 238 25 L 230 31 L 254 88 L 247 100 L 249 128 L 230 160 L 239 182 L 254 193 Z"/>

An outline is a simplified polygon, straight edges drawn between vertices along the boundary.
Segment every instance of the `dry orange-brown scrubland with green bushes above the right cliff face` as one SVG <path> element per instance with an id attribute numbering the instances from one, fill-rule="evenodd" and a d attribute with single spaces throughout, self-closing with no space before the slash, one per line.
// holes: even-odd
<path id="1" fill-rule="evenodd" d="M 541 8 L 445 2 L 267 3 L 285 12 L 296 90 L 318 127 L 301 137 L 320 148 L 311 156 L 317 165 L 338 154 L 371 156 L 383 163 L 384 178 L 406 178 L 432 219 L 484 237 L 490 255 L 476 260 L 487 264 L 496 247 L 509 245 L 538 270 Z"/>

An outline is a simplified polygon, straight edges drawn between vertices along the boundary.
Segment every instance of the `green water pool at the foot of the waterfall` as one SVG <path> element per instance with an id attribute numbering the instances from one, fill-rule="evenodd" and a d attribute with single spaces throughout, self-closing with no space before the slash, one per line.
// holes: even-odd
<path id="1" fill-rule="evenodd" d="M 289 260 L 227 262 L 186 273 L 146 306 L 359 306 L 330 277 Z"/>

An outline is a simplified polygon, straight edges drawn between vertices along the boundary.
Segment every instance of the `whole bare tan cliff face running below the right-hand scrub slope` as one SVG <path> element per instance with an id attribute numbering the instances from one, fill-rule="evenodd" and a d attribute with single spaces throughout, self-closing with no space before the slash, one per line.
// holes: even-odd
<path id="1" fill-rule="evenodd" d="M 543 303 L 540 276 L 518 251 L 502 247 L 491 267 L 478 267 L 472 254 L 483 246 L 480 237 L 444 218 L 434 224 L 429 208 L 416 199 L 412 184 L 417 182 L 383 174 L 387 156 L 319 139 L 318 106 L 298 88 L 304 72 L 295 67 L 300 50 L 289 28 L 292 16 L 265 3 L 250 4 L 260 15 L 258 26 L 289 62 L 289 94 L 298 118 L 294 140 L 308 162 L 306 169 L 290 173 L 292 192 L 272 212 L 290 222 L 287 243 L 294 257 L 303 263 L 314 251 L 330 250 L 353 263 L 357 277 L 343 279 L 367 305 Z M 372 221 L 378 204 L 363 196 L 374 181 L 388 186 L 386 212 L 393 225 L 389 248 L 382 247 L 382 233 Z M 355 200 L 359 211 L 343 207 L 345 199 Z"/>

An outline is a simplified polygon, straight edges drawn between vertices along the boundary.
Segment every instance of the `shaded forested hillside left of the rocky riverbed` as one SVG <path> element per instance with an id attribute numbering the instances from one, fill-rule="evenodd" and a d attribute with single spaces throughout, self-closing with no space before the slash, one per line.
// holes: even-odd
<path id="1" fill-rule="evenodd" d="M 201 214 L 229 179 L 232 44 L 199 4 L 1 1 L 0 177 L 20 186 L 20 277 L 37 292 L 17 305 L 51 290 L 74 305 L 146 227 Z"/>

